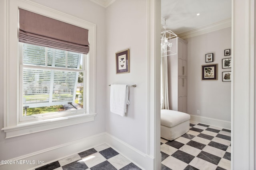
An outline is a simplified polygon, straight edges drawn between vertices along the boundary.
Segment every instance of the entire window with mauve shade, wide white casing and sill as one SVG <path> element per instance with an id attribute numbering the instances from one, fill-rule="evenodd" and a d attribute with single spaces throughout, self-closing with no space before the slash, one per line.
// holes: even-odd
<path id="1" fill-rule="evenodd" d="M 17 2 L 6 4 L 6 138 L 94 121 L 96 25 Z"/>

